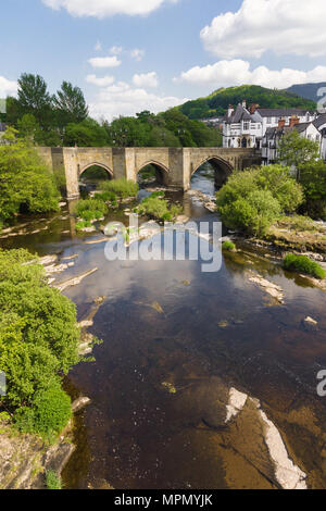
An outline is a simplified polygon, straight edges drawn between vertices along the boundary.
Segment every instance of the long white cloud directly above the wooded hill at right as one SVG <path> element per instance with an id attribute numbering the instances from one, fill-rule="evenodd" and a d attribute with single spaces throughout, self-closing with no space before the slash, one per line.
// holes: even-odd
<path id="1" fill-rule="evenodd" d="M 243 60 L 218 61 L 203 67 L 196 66 L 181 73 L 176 82 L 210 85 L 214 88 L 233 85 L 261 85 L 263 87 L 287 88 L 293 84 L 317 83 L 326 80 L 326 66 L 318 65 L 311 71 L 283 68 L 271 71 L 264 65 L 250 70 L 250 63 Z"/>

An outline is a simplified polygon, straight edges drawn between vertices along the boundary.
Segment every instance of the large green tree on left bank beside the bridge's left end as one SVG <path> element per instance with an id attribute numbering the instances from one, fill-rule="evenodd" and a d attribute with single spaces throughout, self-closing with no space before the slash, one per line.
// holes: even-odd
<path id="1" fill-rule="evenodd" d="M 57 211 L 59 192 L 53 175 L 36 150 L 9 128 L 0 146 L 0 220 L 8 221 L 24 205 L 29 212 Z"/>

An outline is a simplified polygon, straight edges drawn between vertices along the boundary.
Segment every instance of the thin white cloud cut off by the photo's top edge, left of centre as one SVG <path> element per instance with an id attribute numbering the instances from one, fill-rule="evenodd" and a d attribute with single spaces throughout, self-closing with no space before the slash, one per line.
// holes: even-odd
<path id="1" fill-rule="evenodd" d="M 114 14 L 145 15 L 159 9 L 163 3 L 178 0 L 42 0 L 55 11 L 65 9 L 73 16 L 108 17 Z"/>

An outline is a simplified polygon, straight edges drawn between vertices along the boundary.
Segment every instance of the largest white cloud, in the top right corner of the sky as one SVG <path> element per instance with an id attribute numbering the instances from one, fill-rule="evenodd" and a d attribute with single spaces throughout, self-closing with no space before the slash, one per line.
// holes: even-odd
<path id="1" fill-rule="evenodd" d="M 326 54 L 325 0 L 243 0 L 239 11 L 216 16 L 201 30 L 206 50 L 223 59 Z"/>

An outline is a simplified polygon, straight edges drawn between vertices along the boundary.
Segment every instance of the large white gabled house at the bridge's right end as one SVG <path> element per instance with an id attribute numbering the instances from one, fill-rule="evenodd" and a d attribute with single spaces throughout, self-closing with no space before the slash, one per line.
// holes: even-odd
<path id="1" fill-rule="evenodd" d="M 236 110 L 230 104 L 223 122 L 223 147 L 261 149 L 267 129 L 277 128 L 280 119 L 289 125 L 293 117 L 300 124 L 311 123 L 317 113 L 302 109 L 261 109 L 259 104 L 247 108 L 246 100 Z"/>

